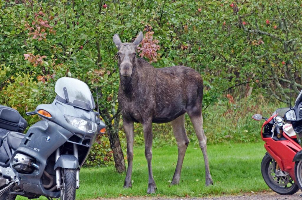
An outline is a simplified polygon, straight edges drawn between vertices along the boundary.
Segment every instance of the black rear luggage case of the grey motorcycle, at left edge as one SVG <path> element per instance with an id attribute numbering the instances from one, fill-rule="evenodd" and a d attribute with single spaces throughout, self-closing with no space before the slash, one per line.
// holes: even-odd
<path id="1" fill-rule="evenodd" d="M 18 111 L 0 105 L 0 128 L 23 133 L 26 127 L 27 122 Z"/>

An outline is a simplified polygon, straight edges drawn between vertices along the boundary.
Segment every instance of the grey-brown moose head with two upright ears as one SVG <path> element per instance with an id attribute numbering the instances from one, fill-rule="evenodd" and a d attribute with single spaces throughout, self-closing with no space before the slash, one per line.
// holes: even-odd
<path id="1" fill-rule="evenodd" d="M 118 49 L 118 67 L 120 69 L 120 75 L 123 77 L 130 77 L 132 74 L 135 58 L 136 58 L 136 50 L 137 46 L 143 40 L 143 33 L 140 31 L 137 38 L 134 42 L 125 42 L 122 43 L 120 41 L 120 37 L 118 34 L 114 34 L 113 42 Z"/>

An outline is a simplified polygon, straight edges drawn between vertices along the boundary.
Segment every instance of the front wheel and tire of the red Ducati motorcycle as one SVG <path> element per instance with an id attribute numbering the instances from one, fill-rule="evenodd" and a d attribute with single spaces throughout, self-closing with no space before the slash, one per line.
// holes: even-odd
<path id="1" fill-rule="evenodd" d="M 261 174 L 265 183 L 274 192 L 281 195 L 292 195 L 296 193 L 299 190 L 299 186 L 294 182 L 290 175 L 287 175 L 286 177 L 277 177 L 275 176 L 275 169 L 275 160 L 266 153 L 261 162 Z"/>

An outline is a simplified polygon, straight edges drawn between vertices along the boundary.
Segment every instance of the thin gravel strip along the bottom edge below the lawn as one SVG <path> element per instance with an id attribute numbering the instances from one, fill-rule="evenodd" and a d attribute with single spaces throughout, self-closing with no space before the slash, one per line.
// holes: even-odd
<path id="1" fill-rule="evenodd" d="M 297 192 L 294 195 L 279 195 L 275 192 L 258 192 L 258 193 L 247 193 L 242 195 L 235 195 L 235 196 L 217 196 L 217 197 L 204 197 L 204 198 L 164 198 L 164 197 L 147 197 L 147 196 L 140 196 L 140 197 L 120 197 L 120 198 L 98 198 L 94 200 L 302 200 L 301 192 Z"/>

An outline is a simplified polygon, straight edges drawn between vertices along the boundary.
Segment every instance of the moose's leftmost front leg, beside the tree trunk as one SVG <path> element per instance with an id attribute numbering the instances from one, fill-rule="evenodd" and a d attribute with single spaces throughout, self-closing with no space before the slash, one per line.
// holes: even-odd
<path id="1" fill-rule="evenodd" d="M 132 161 L 133 161 L 133 137 L 134 137 L 134 127 L 133 121 L 127 121 L 123 119 L 123 127 L 126 133 L 127 139 L 127 174 L 125 178 L 124 188 L 132 187 L 131 174 L 132 174 Z"/>

